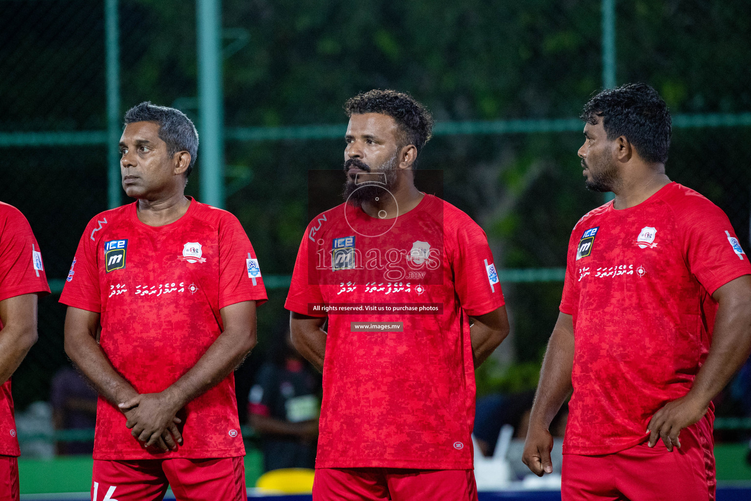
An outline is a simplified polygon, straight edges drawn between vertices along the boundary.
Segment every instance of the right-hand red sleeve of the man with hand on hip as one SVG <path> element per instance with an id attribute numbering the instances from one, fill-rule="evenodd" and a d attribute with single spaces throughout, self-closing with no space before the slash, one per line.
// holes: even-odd
<path id="1" fill-rule="evenodd" d="M 686 264 L 707 292 L 714 294 L 731 280 L 751 274 L 751 264 L 728 216 L 710 201 L 702 202 L 677 219 L 683 227 Z"/>

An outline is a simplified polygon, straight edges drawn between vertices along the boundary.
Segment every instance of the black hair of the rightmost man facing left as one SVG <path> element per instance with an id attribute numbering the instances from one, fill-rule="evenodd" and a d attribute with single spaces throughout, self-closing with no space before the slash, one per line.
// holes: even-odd
<path id="1" fill-rule="evenodd" d="M 668 105 L 646 83 L 605 89 L 584 105 L 581 119 L 595 125 L 602 117 L 608 140 L 626 136 L 646 161 L 668 161 L 672 119 Z"/>

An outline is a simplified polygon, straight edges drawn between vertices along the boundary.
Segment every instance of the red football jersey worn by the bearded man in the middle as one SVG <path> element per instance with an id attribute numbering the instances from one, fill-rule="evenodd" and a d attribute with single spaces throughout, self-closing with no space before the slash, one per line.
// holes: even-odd
<path id="1" fill-rule="evenodd" d="M 315 218 L 285 307 L 328 316 L 316 467 L 472 468 L 468 315 L 503 304 L 484 231 L 439 198 Z"/>

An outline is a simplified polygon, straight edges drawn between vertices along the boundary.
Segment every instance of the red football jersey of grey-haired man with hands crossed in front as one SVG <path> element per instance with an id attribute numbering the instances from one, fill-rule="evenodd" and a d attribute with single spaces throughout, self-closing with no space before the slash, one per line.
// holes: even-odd
<path id="1" fill-rule="evenodd" d="M 136 203 L 99 214 L 83 232 L 60 302 L 101 312 L 99 343 L 139 393 L 162 391 L 222 333 L 219 310 L 266 300 L 255 252 L 237 218 L 192 200 L 176 222 L 143 224 Z M 99 397 L 94 459 L 234 457 L 245 454 L 234 375 L 178 413 L 177 451 L 146 449 L 125 415 Z"/>

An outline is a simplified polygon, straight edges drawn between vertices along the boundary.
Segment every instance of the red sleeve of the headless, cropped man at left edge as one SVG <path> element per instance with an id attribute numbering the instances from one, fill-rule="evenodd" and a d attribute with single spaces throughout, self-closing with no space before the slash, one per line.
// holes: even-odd
<path id="1" fill-rule="evenodd" d="M 23 294 L 49 294 L 39 244 L 15 207 L 0 207 L 0 301 Z"/>

